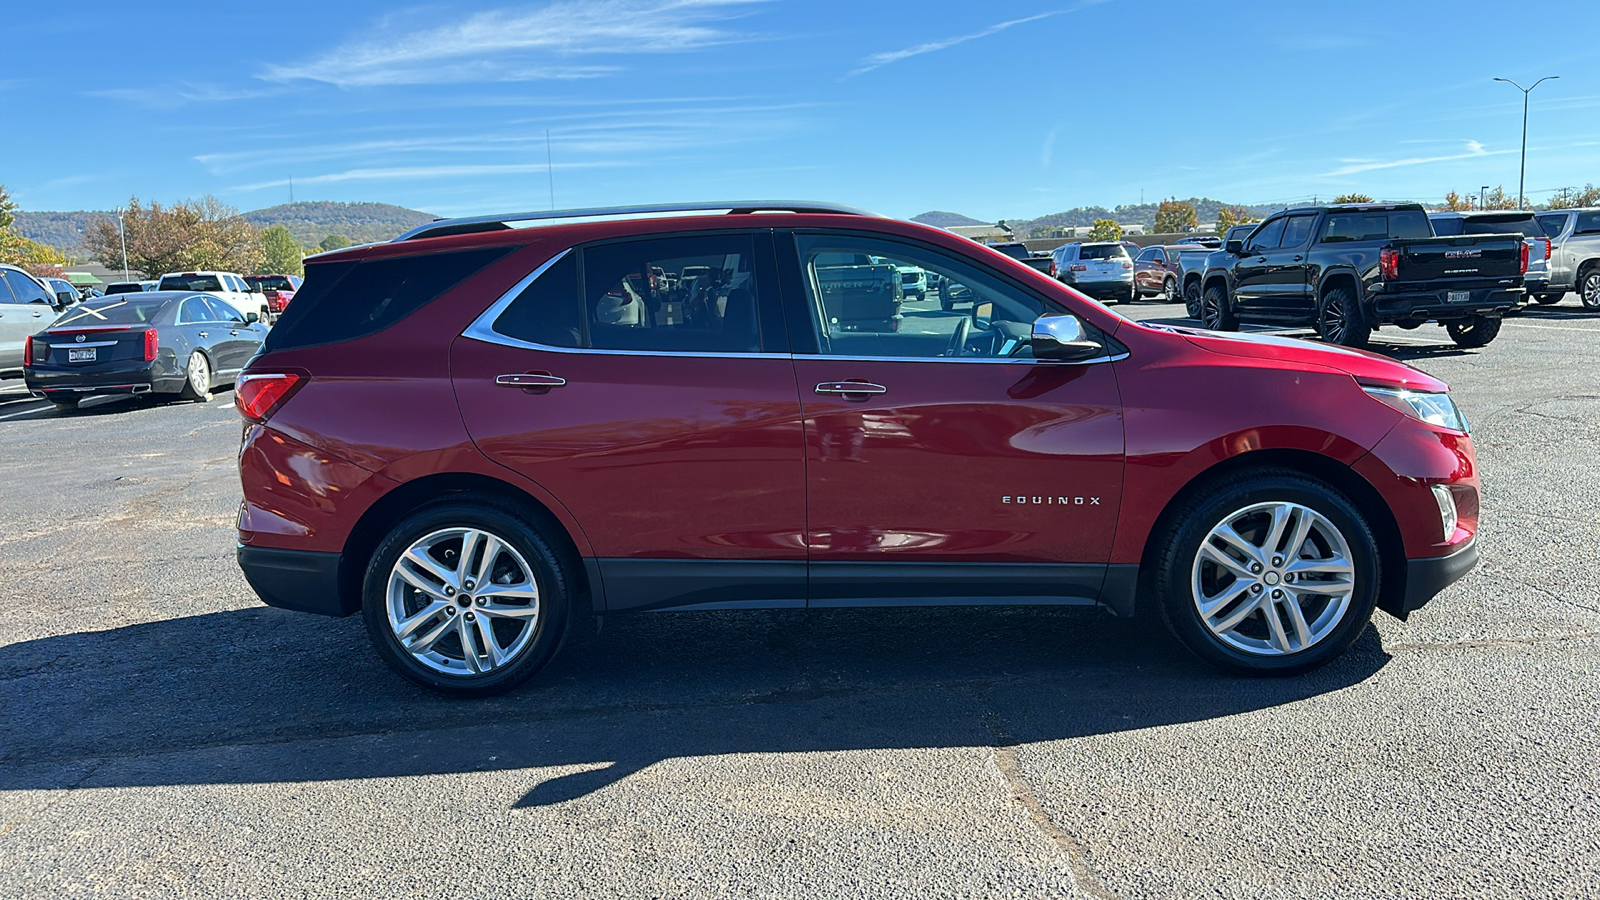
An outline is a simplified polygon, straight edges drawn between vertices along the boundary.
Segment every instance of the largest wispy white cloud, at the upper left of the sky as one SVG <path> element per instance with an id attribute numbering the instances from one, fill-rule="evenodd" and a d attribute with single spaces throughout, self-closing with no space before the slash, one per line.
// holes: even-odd
<path id="1" fill-rule="evenodd" d="M 582 56 L 683 53 L 746 40 L 715 27 L 765 0 L 562 0 L 536 10 L 475 13 L 459 22 L 336 46 L 307 62 L 270 66 L 272 82 L 341 88 L 454 82 L 595 78 L 616 64 Z"/>

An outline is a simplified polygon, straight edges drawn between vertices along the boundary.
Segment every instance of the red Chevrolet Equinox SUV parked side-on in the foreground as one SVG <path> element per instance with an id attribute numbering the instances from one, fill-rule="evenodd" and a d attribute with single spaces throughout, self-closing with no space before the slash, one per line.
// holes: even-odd
<path id="1" fill-rule="evenodd" d="M 842 255 L 973 304 L 845 328 Z M 1440 381 L 1130 322 L 835 207 L 446 219 L 323 255 L 237 400 L 250 583 L 360 612 L 458 695 L 517 685 L 579 615 L 669 609 L 1098 604 L 1301 673 L 1477 562 Z"/>

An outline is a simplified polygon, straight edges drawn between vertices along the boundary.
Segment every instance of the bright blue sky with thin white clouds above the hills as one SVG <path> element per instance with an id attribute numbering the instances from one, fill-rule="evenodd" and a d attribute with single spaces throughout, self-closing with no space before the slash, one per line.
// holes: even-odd
<path id="1" fill-rule="evenodd" d="M 298 200 L 467 215 L 546 208 L 552 175 L 558 207 L 986 219 L 1427 200 L 1517 189 L 1522 93 L 1491 78 L 1552 74 L 1528 191 L 1600 183 L 1590 0 L 146 0 L 18 5 L 6 26 L 0 183 L 24 210 L 251 210 L 293 178 Z"/>

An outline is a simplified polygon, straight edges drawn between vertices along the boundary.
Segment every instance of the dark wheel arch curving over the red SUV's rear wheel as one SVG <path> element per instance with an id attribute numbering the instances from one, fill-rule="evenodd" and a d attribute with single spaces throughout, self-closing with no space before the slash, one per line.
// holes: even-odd
<path id="1" fill-rule="evenodd" d="M 357 612 L 362 605 L 362 580 L 366 577 L 366 565 L 387 535 L 403 517 L 427 503 L 450 496 L 488 498 L 499 506 L 509 506 L 522 512 L 539 527 L 539 533 L 554 544 L 563 562 L 568 564 L 576 588 L 576 610 L 594 609 L 595 586 L 590 583 L 578 541 L 566 530 L 562 519 L 544 503 L 520 487 L 477 472 L 440 472 L 408 480 L 379 496 L 362 517 L 344 541 L 339 559 L 339 604 L 346 612 Z"/>

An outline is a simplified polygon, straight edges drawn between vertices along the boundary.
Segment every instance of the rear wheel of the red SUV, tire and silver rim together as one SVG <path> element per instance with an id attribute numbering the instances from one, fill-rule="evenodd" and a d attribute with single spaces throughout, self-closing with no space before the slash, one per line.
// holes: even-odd
<path id="1" fill-rule="evenodd" d="M 570 585 L 560 556 L 522 516 L 451 500 L 413 512 L 379 544 L 362 613 L 400 676 L 490 697 L 528 681 L 560 649 Z"/>

